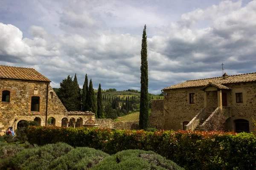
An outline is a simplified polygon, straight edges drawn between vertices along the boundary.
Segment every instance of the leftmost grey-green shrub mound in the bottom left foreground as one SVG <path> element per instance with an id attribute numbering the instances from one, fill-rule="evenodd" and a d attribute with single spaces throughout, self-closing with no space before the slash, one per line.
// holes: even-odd
<path id="1" fill-rule="evenodd" d="M 21 170 L 47 170 L 49 164 L 72 150 L 68 144 L 47 144 L 43 147 L 24 149 L 15 156 L 3 161 L 3 169 L 7 167 Z"/>

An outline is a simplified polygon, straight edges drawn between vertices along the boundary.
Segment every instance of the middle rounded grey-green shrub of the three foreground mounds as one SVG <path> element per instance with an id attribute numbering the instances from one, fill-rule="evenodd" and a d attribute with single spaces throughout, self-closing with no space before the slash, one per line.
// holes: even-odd
<path id="1" fill-rule="evenodd" d="M 59 159 L 52 161 L 50 170 L 87 170 L 98 164 L 108 153 L 89 147 L 77 147 Z"/>

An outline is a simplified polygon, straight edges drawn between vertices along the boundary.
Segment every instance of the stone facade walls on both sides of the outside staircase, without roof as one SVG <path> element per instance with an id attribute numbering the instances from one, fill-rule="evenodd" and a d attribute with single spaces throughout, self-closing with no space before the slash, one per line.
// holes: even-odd
<path id="1" fill-rule="evenodd" d="M 256 119 L 256 82 L 225 84 L 231 90 L 227 93 L 227 107 L 230 107 L 230 118 L 227 119 L 230 130 L 236 130 L 234 121 L 245 119 L 249 122 L 250 131 L 256 128 L 252 119 Z M 207 94 L 207 107 L 217 108 L 217 91 L 202 91 L 202 87 L 164 90 L 167 95 L 163 101 L 163 116 L 166 130 L 182 129 L 184 121 L 190 122 L 194 116 L 204 108 L 204 93 Z M 195 103 L 189 104 L 189 93 L 195 93 Z M 242 93 L 243 102 L 236 102 L 236 93 Z"/>

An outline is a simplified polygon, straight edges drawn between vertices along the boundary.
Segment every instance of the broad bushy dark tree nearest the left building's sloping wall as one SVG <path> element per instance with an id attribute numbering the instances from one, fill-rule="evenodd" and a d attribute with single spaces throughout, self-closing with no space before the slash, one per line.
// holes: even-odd
<path id="1" fill-rule="evenodd" d="M 60 83 L 58 98 L 61 100 L 67 111 L 77 111 L 77 96 L 72 77 L 68 76 Z"/>

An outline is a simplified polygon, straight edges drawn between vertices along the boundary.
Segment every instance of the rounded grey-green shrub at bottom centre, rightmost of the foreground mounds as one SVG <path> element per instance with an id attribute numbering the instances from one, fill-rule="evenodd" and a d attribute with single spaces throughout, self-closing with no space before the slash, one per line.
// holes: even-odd
<path id="1" fill-rule="evenodd" d="M 105 158 L 91 170 L 183 170 L 183 168 L 152 151 L 124 150 Z"/>

